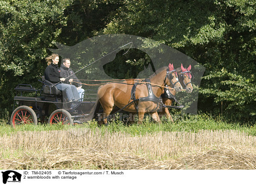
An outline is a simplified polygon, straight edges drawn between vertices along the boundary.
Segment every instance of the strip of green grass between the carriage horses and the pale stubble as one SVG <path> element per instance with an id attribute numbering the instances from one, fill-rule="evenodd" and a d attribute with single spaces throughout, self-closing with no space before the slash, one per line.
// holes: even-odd
<path id="1" fill-rule="evenodd" d="M 49 126 L 47 124 L 38 124 L 38 125 L 23 125 L 17 126 L 15 129 L 12 128 L 11 125 L 6 124 L 6 121 L 0 121 L 0 136 L 4 133 L 12 133 L 17 131 L 47 131 L 47 130 L 63 130 L 68 129 L 70 126 L 68 125 L 54 125 Z M 82 125 L 75 125 L 74 127 L 86 127 L 92 130 L 98 128 L 96 121 L 89 121 L 88 123 Z M 102 133 L 105 131 L 108 132 L 123 132 L 130 133 L 134 136 L 136 135 L 144 135 L 148 133 L 155 133 L 159 131 L 181 131 L 181 132 L 198 132 L 198 130 L 239 130 L 244 131 L 250 135 L 256 136 L 256 125 L 252 126 L 250 124 L 240 125 L 239 123 L 229 123 L 227 121 L 221 121 L 221 119 L 213 119 L 207 115 L 193 115 L 180 117 L 176 119 L 175 124 L 168 120 L 162 120 L 162 124 L 151 122 L 148 118 L 146 118 L 142 124 L 134 124 L 127 125 L 122 121 L 113 120 L 109 121 L 109 125 L 107 127 L 102 126 Z"/>

